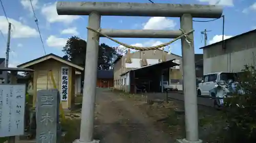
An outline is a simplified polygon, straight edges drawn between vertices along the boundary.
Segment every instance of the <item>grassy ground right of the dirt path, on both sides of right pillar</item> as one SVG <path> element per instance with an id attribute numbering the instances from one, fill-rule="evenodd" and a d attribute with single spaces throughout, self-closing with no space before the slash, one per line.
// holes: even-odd
<path id="1" fill-rule="evenodd" d="M 140 106 L 141 109 L 146 109 L 146 114 L 155 119 L 156 125 L 160 126 L 165 132 L 168 132 L 172 138 L 179 139 L 185 137 L 184 102 L 169 100 L 169 103 L 155 102 L 153 105 L 141 104 Z M 224 126 L 225 121 L 222 118 L 222 111 L 211 107 L 198 106 L 200 139 L 204 142 L 221 143 L 223 139 L 220 132 Z"/>

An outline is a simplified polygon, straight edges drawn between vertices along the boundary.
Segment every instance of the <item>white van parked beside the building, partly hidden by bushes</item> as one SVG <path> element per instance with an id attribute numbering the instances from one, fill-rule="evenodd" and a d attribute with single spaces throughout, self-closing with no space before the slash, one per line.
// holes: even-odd
<path id="1" fill-rule="evenodd" d="M 234 72 L 217 72 L 217 73 L 208 73 L 203 76 L 201 83 L 198 85 L 197 94 L 203 96 L 210 96 L 209 91 L 215 88 L 217 82 L 220 80 L 228 81 L 232 79 L 236 81 L 237 73 Z"/>

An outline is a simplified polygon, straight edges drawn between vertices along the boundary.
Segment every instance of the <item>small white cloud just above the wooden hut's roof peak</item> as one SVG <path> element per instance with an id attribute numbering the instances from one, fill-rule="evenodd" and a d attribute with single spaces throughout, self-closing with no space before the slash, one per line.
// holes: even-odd
<path id="1" fill-rule="evenodd" d="M 53 35 L 49 36 L 46 40 L 46 43 L 49 47 L 62 48 L 66 45 L 68 38 L 58 38 Z"/>

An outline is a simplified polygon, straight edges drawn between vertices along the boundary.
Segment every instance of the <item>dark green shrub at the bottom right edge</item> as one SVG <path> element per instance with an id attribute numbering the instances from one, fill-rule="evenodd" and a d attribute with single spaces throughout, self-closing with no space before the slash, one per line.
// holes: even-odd
<path id="1" fill-rule="evenodd" d="M 256 142 L 256 69 L 245 66 L 239 81 L 245 94 L 234 93 L 224 100 L 224 142 Z"/>

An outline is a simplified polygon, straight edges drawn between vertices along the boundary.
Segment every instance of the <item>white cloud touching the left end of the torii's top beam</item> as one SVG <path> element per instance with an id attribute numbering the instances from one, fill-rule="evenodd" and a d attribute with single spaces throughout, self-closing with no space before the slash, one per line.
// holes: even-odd
<path id="1" fill-rule="evenodd" d="M 64 22 L 64 23 L 72 23 L 74 20 L 80 18 L 78 15 L 58 15 L 56 10 L 56 3 L 49 3 L 42 7 L 41 13 L 46 17 L 46 20 L 50 23 L 54 22 Z"/>

